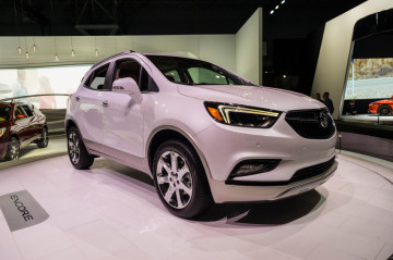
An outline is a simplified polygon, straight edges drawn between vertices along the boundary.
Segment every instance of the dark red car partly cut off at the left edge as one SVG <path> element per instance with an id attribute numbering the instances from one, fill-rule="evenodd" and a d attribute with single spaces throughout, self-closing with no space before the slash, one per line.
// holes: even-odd
<path id="1" fill-rule="evenodd" d="M 20 149 L 32 143 L 48 146 L 46 116 L 28 103 L 0 102 L 0 159 L 17 160 Z"/>

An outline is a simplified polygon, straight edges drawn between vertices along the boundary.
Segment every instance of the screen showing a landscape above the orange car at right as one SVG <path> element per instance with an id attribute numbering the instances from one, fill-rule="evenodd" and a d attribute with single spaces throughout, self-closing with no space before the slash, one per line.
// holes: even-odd
<path id="1" fill-rule="evenodd" d="M 345 100 L 386 99 L 393 96 L 393 58 L 353 59 Z"/>

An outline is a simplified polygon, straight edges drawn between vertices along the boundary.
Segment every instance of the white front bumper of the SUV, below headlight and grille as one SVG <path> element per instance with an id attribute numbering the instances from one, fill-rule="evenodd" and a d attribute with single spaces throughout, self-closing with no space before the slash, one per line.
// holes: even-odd
<path id="1" fill-rule="evenodd" d="M 207 179 L 215 202 L 262 201 L 289 197 L 324 183 L 334 172 L 334 162 L 324 172 L 298 182 L 289 182 L 297 171 L 332 160 L 336 133 L 329 139 L 299 136 L 283 114 L 271 128 L 235 127 L 214 124 L 194 136 L 204 156 Z M 279 159 L 272 171 L 233 178 L 229 173 L 241 161 Z M 237 185 L 242 183 L 242 185 Z M 273 183 L 274 185 L 258 185 Z"/>

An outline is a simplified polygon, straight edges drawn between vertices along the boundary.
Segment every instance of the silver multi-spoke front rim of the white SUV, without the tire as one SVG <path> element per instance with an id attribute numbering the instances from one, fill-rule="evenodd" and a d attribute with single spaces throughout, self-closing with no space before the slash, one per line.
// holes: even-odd
<path id="1" fill-rule="evenodd" d="M 184 158 L 175 151 L 164 152 L 157 163 L 157 184 L 165 201 L 183 209 L 191 201 L 192 176 Z"/>

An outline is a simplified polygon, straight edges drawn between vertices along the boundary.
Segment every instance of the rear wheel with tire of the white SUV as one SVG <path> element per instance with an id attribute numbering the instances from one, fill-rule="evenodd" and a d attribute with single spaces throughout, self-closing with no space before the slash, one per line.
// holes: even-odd
<path id="1" fill-rule="evenodd" d="M 82 136 L 76 127 L 71 127 L 67 133 L 67 147 L 72 165 L 79 170 L 88 169 L 94 157 L 87 152 Z"/>

